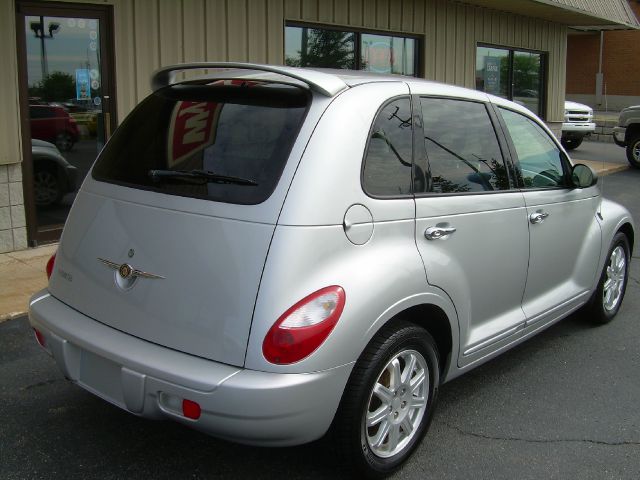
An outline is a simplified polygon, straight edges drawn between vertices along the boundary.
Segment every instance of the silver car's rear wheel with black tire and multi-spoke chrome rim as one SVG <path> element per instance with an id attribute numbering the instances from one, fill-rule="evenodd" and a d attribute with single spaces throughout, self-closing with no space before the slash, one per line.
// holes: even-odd
<path id="1" fill-rule="evenodd" d="M 383 478 L 419 445 L 438 396 L 438 358 L 431 335 L 404 321 L 383 327 L 362 353 L 332 425 L 338 457 L 355 477 Z"/>

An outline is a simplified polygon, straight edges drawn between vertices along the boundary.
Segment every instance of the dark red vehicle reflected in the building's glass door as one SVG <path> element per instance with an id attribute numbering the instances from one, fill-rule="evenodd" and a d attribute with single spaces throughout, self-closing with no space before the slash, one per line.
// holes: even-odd
<path id="1" fill-rule="evenodd" d="M 68 152 L 78 141 L 78 126 L 69 113 L 61 106 L 29 105 L 31 137 L 56 146 Z"/>

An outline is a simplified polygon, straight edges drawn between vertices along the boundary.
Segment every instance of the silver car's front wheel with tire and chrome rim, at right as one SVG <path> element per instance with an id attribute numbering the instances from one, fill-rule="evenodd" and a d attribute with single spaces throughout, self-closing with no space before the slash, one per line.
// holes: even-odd
<path id="1" fill-rule="evenodd" d="M 618 232 L 611 242 L 598 287 L 587 304 L 586 313 L 595 323 L 609 323 L 620 310 L 629 279 L 630 259 L 629 240 Z"/>

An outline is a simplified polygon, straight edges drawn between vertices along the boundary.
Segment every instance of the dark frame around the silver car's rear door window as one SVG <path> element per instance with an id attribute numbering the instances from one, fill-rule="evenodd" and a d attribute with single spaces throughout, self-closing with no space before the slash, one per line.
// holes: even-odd
<path id="1" fill-rule="evenodd" d="M 463 102 L 472 102 L 479 103 L 484 105 L 485 110 L 487 112 L 487 116 L 491 122 L 491 127 L 493 128 L 493 132 L 498 141 L 498 147 L 500 148 L 500 153 L 502 154 L 502 160 L 507 169 L 507 175 L 509 176 L 509 186 L 508 190 L 484 190 L 484 191 L 473 191 L 473 192 L 420 192 L 414 193 L 415 198 L 434 198 L 434 197 L 452 197 L 452 196 L 467 196 L 467 195 L 496 195 L 501 193 L 512 193 L 519 192 L 520 188 L 516 182 L 515 175 L 515 166 L 513 164 L 513 157 L 511 155 L 511 150 L 509 148 L 509 144 L 507 143 L 507 139 L 503 132 L 503 126 L 501 123 L 501 119 L 497 116 L 496 111 L 494 110 L 494 106 L 491 102 L 476 100 L 468 97 L 460 97 L 460 96 L 446 96 L 446 95 L 428 95 L 428 94 L 415 94 L 412 95 L 416 97 L 416 101 L 420 102 L 420 108 L 415 108 L 416 111 L 415 116 L 419 116 L 419 125 L 420 132 L 415 133 L 417 129 L 414 128 L 414 135 L 418 138 L 414 141 L 414 159 L 415 158 L 424 158 L 425 167 L 424 170 L 425 175 L 427 177 L 427 188 L 431 188 L 431 165 L 429 163 L 429 155 L 427 153 L 427 147 L 424 142 L 424 119 L 422 116 L 422 98 L 432 98 L 432 99 L 443 99 L 443 100 L 456 100 Z M 415 123 L 415 122 L 414 122 Z M 418 145 L 419 144 L 419 145 Z M 416 148 L 420 149 L 420 152 L 416 152 Z M 422 167 L 421 167 L 422 168 Z"/>

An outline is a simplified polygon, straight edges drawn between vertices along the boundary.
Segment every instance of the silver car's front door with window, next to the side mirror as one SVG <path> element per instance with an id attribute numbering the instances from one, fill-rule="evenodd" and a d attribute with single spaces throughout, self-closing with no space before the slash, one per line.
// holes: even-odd
<path id="1" fill-rule="evenodd" d="M 570 185 L 566 155 L 535 120 L 499 108 L 527 206 L 530 259 L 522 308 L 527 323 L 551 321 L 584 303 L 597 274 L 599 187 Z"/>

